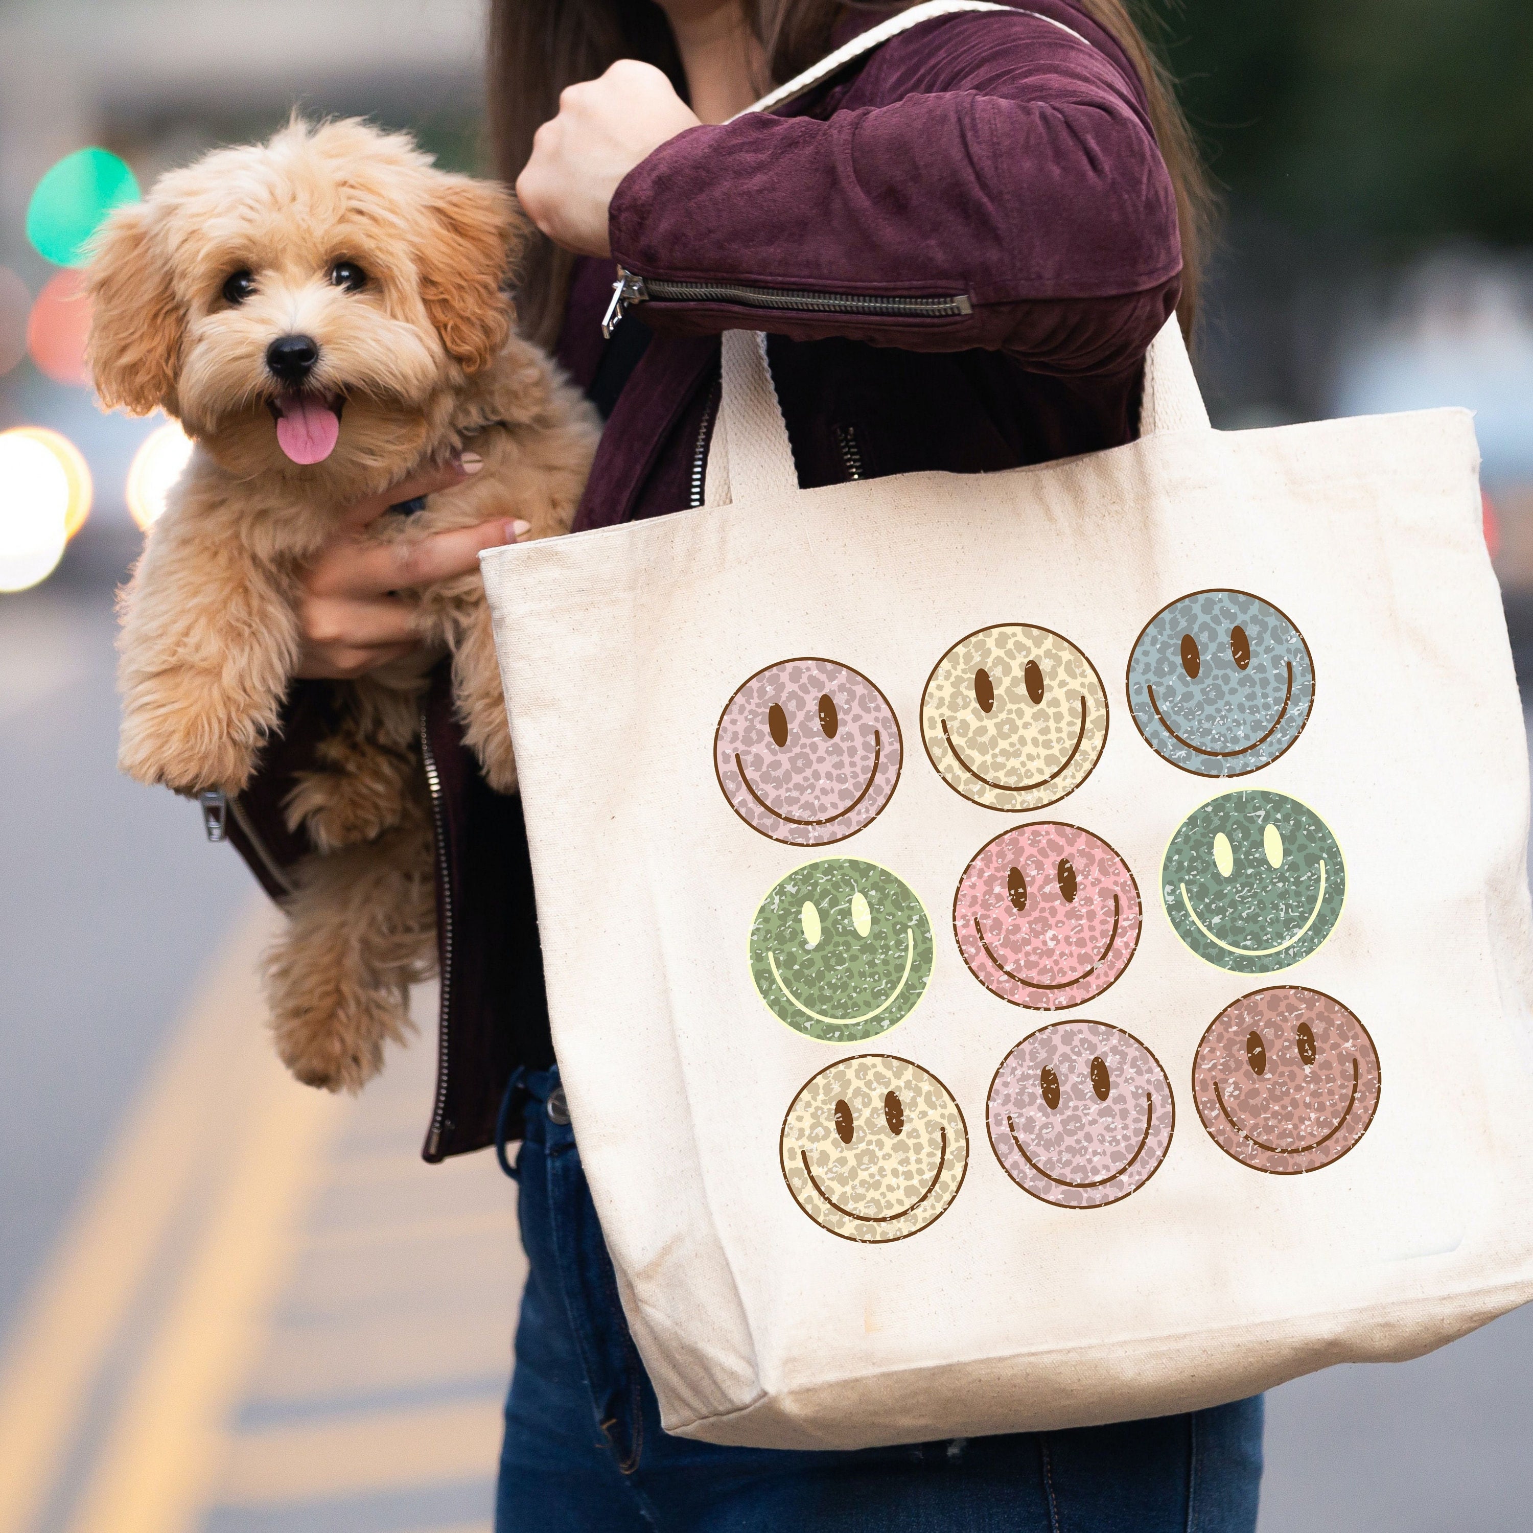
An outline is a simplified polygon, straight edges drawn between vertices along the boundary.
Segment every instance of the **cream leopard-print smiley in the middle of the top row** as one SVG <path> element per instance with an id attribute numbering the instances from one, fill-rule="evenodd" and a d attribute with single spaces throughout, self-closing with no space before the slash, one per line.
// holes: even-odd
<path id="1" fill-rule="evenodd" d="M 1107 744 L 1107 693 L 1065 638 L 1024 622 L 960 639 L 927 678 L 921 740 L 954 793 L 1010 814 L 1058 803 Z"/>

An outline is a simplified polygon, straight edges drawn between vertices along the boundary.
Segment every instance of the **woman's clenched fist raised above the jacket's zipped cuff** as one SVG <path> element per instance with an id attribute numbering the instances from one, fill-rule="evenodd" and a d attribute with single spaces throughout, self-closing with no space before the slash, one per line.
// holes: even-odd
<path id="1" fill-rule="evenodd" d="M 599 80 L 560 95 L 560 115 L 538 129 L 517 196 L 556 245 L 610 256 L 607 208 L 618 182 L 698 123 L 659 69 L 619 58 Z"/>

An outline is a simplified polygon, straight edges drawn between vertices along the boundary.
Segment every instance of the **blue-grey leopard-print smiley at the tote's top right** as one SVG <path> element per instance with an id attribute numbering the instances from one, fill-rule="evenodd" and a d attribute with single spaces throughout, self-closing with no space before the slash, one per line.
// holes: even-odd
<path id="1" fill-rule="evenodd" d="M 1314 702 L 1305 636 L 1243 590 L 1197 590 L 1162 607 L 1128 658 L 1128 711 L 1145 744 L 1200 777 L 1271 765 Z"/>

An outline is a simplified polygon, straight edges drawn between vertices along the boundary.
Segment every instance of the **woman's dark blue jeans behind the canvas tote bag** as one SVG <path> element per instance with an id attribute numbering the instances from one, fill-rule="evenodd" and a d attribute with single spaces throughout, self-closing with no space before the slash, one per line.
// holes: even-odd
<path id="1" fill-rule="evenodd" d="M 517 1159 L 527 1286 L 495 1533 L 1252 1533 L 1262 1400 L 1154 1421 L 855 1452 L 661 1430 L 569 1124 L 535 1101 Z M 566 1116 L 555 1113 L 555 1116 Z M 503 1157 L 504 1160 L 504 1157 Z"/>

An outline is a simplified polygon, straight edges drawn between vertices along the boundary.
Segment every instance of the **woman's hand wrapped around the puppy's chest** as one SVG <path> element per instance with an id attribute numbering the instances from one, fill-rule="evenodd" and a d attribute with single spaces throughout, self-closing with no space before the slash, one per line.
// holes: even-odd
<path id="1" fill-rule="evenodd" d="M 478 564 L 480 549 L 515 543 L 527 532 L 524 521 L 484 521 L 419 541 L 363 538 L 389 506 L 451 489 L 483 466 L 477 452 L 464 452 L 346 510 L 330 547 L 308 567 L 299 589 L 297 621 L 304 638 L 299 676 L 351 681 L 417 650 L 415 604 L 399 592 L 468 575 Z"/>

